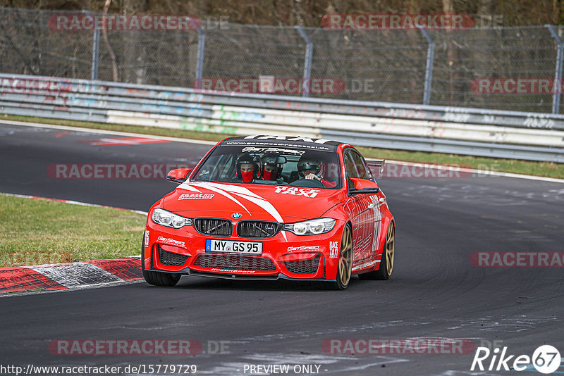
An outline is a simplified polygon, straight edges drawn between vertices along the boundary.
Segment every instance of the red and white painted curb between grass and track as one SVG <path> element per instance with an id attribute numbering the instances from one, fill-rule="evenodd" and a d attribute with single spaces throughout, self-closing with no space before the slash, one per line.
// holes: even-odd
<path id="1" fill-rule="evenodd" d="M 0 268 L 0 294 L 66 290 L 142 280 L 140 258 Z"/>

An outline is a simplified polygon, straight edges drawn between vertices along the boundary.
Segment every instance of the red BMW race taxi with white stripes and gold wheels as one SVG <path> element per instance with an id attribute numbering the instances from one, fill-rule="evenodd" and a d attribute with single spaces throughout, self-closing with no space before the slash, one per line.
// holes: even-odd
<path id="1" fill-rule="evenodd" d="M 384 164 L 377 161 L 376 165 Z M 231 137 L 149 210 L 142 271 L 149 284 L 181 275 L 247 280 L 386 280 L 395 225 L 360 153 L 341 142 Z"/>

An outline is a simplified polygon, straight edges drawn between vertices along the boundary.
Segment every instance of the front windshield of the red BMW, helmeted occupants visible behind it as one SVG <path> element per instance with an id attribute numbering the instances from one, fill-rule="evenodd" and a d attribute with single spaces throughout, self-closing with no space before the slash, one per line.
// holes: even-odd
<path id="1" fill-rule="evenodd" d="M 337 153 L 302 146 L 217 146 L 195 171 L 195 182 L 240 182 L 341 188 Z"/>

